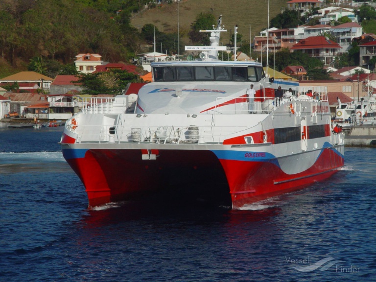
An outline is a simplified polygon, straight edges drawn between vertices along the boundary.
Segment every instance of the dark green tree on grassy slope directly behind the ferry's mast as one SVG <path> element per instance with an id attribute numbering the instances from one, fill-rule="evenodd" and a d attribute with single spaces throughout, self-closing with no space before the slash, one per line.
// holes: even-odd
<path id="1" fill-rule="evenodd" d="M 208 32 L 199 32 L 200 29 L 212 29 L 216 24 L 216 19 L 212 14 L 200 13 L 196 16 L 196 20 L 191 24 L 191 30 L 188 33 L 189 39 L 193 43 L 201 43 L 202 45 L 210 45 L 210 34 Z"/>

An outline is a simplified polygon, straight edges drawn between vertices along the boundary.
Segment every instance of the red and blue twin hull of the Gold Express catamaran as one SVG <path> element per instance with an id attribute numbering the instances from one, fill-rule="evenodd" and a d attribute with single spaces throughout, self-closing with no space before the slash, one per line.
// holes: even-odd
<path id="1" fill-rule="evenodd" d="M 160 189 L 171 193 L 178 190 L 179 194 L 184 190 L 197 198 L 205 195 L 222 203 L 232 203 L 233 209 L 237 209 L 328 178 L 344 162 L 343 145 L 299 153 L 293 158 L 262 158 L 265 156 L 262 152 L 234 150 L 228 151 L 230 156 L 237 152 L 250 158 L 223 158 L 223 151 L 211 150 L 208 146 L 195 150 L 171 147 L 145 150 L 63 145 L 65 159 L 86 187 L 90 207 Z M 253 158 L 253 154 L 261 158 Z M 153 155 L 155 159 L 145 160 L 142 155 Z M 308 159 L 314 158 L 314 162 L 304 171 L 286 173 L 280 165 L 286 163 L 286 158 L 296 167 Z"/>

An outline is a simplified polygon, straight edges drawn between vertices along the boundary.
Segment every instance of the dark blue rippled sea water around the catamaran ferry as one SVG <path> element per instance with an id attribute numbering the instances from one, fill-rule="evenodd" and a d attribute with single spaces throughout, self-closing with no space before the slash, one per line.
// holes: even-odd
<path id="1" fill-rule="evenodd" d="M 0 123 L 0 281 L 376 281 L 376 151 L 242 211 L 156 200 L 87 210 L 62 128 Z M 120 177 L 120 176 L 119 176 Z"/>

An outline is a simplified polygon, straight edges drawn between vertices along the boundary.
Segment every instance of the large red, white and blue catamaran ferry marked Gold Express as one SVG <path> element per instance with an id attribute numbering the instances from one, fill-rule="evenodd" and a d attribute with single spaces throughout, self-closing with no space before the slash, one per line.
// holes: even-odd
<path id="1" fill-rule="evenodd" d="M 195 61 L 152 63 L 153 82 L 136 102 L 92 98 L 67 121 L 63 155 L 89 207 L 168 188 L 224 197 L 238 209 L 343 166 L 344 136 L 331 130 L 326 87 L 274 80 L 258 62 L 219 61 L 221 18 L 206 31 L 211 50 Z"/>

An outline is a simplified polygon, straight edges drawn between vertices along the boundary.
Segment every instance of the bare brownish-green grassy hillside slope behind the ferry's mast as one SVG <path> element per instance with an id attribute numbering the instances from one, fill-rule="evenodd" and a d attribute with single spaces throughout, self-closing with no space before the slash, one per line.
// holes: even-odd
<path id="1" fill-rule="evenodd" d="M 287 7 L 286 0 L 270 0 L 269 21 L 281 9 Z M 238 33 L 249 42 L 251 29 L 252 38 L 267 27 L 268 0 L 182 0 L 180 2 L 180 33 L 186 36 L 196 16 L 200 13 L 212 13 L 215 18 L 222 15 L 222 24 L 228 32 L 222 34 L 221 42 L 229 43 L 230 30 L 234 32 L 235 24 Z M 178 3 L 162 5 L 134 16 L 131 24 L 140 28 L 144 24 L 154 24 L 160 31 L 177 32 L 178 30 Z"/>

